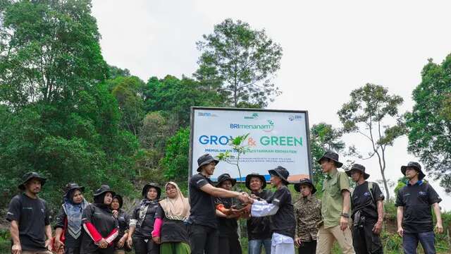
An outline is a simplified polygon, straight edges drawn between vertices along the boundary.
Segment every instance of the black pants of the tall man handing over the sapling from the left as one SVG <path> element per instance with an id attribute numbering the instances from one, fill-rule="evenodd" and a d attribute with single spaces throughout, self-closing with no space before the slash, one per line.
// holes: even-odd
<path id="1" fill-rule="evenodd" d="M 191 224 L 189 231 L 191 254 L 218 254 L 218 229 Z"/>

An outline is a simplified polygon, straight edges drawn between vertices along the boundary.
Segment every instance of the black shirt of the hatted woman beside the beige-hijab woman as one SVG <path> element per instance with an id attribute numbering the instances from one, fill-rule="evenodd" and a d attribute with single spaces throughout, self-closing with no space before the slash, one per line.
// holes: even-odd
<path id="1" fill-rule="evenodd" d="M 135 210 L 133 210 L 132 219 L 140 219 L 140 208 L 141 205 L 137 205 L 135 207 Z M 147 207 L 147 212 L 141 226 L 138 226 L 138 224 L 136 225 L 133 236 L 140 238 L 152 238 L 152 231 L 154 230 L 156 218 L 161 218 L 161 214 L 159 214 L 159 203 L 158 200 L 152 200 L 149 207 Z"/>

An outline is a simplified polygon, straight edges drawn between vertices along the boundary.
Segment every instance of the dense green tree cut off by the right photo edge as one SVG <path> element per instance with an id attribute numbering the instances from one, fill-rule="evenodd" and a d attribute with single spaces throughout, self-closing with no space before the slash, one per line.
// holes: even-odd
<path id="1" fill-rule="evenodd" d="M 443 63 L 432 59 L 412 92 L 414 107 L 406 114 L 409 151 L 418 156 L 447 193 L 451 192 L 451 54 Z"/>

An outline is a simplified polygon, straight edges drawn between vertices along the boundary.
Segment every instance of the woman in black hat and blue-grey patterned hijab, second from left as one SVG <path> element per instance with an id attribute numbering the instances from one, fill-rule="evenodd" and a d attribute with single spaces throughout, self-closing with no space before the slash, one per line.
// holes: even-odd
<path id="1" fill-rule="evenodd" d="M 89 203 L 83 198 L 85 187 L 68 183 L 63 205 L 56 217 L 55 250 L 66 254 L 80 254 L 82 234 L 82 213 Z"/>

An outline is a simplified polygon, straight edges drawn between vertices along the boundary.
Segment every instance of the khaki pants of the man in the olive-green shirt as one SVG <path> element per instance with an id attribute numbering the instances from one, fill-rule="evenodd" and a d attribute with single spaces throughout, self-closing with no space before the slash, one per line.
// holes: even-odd
<path id="1" fill-rule="evenodd" d="M 330 254 L 330 249 L 332 249 L 335 240 L 338 241 L 343 254 L 355 254 L 352 247 L 351 230 L 346 228 L 345 231 L 341 231 L 340 226 L 333 226 L 328 229 L 324 229 L 324 226 L 319 228 L 316 254 Z"/>

